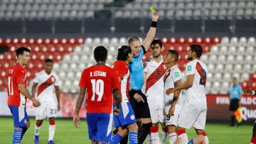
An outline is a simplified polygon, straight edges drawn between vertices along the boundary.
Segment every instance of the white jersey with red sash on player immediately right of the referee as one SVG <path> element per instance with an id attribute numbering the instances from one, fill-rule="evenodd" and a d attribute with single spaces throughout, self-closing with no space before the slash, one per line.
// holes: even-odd
<path id="1" fill-rule="evenodd" d="M 144 94 L 148 100 L 164 101 L 164 74 L 167 70 L 164 60 L 161 59 L 160 62 L 155 62 L 151 57 L 150 60 L 145 62 L 145 65 Z"/>

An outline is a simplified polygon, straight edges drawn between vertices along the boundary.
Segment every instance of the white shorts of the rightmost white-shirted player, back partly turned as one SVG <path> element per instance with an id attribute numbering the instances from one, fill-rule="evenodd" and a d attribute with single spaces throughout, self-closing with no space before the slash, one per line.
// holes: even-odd
<path id="1" fill-rule="evenodd" d="M 206 104 L 192 104 L 186 101 L 178 118 L 178 126 L 186 129 L 193 126 L 193 128 L 204 130 L 206 127 L 206 113 Z"/>

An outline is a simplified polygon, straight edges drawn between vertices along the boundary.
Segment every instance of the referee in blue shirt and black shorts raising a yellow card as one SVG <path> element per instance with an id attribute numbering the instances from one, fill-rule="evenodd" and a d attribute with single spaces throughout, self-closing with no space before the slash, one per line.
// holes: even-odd
<path id="1" fill-rule="evenodd" d="M 132 63 L 129 64 L 129 70 L 131 73 L 129 80 L 129 100 L 132 104 L 132 108 L 134 109 L 136 118 L 139 118 L 142 122 L 142 126 L 139 128 L 138 132 L 139 144 L 144 142 L 152 125 L 146 96 L 142 93 L 142 86 L 144 82 L 142 57 L 149 49 L 151 42 L 154 40 L 158 18 L 159 16 L 156 11 L 151 13 L 151 27 L 143 43 L 141 43 L 137 37 L 132 37 L 128 40 L 128 45 L 132 48 L 133 54 Z"/>

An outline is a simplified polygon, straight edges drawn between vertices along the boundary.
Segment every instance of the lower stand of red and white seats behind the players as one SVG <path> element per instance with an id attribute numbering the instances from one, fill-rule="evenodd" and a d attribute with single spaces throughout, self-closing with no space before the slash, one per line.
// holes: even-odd
<path id="1" fill-rule="evenodd" d="M 183 71 L 186 65 L 186 52 L 192 43 L 203 46 L 204 54 L 201 60 L 208 65 L 209 74 L 206 84 L 208 94 L 228 94 L 230 79 L 235 76 L 240 80 L 244 89 L 256 88 L 256 43 L 255 38 L 162 38 L 164 50 L 173 49 L 180 53 L 178 66 Z M 0 40 L 1 45 L 8 45 L 9 52 L 0 54 L 1 89 L 4 89 L 6 69 L 15 62 L 14 50 L 24 45 L 31 48 L 32 60 L 28 65 L 28 79 L 39 70 L 42 70 L 43 60 L 53 58 L 54 70 L 60 77 L 63 92 L 78 92 L 80 74 L 85 67 L 93 65 L 93 48 L 105 45 L 109 50 L 107 65 L 112 65 L 115 60 L 117 48 L 127 44 L 127 38 L 86 38 L 70 40 L 26 40 L 6 39 Z M 146 53 L 144 60 L 150 57 Z"/>

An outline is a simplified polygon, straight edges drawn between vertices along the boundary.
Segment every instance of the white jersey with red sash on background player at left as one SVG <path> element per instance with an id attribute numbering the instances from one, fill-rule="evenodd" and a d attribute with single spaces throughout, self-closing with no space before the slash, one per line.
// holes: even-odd
<path id="1" fill-rule="evenodd" d="M 50 74 L 46 74 L 44 70 L 38 72 L 33 82 L 38 84 L 36 87 L 36 99 L 41 102 L 55 101 L 55 86 L 59 86 L 60 81 L 54 72 Z"/>

